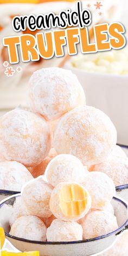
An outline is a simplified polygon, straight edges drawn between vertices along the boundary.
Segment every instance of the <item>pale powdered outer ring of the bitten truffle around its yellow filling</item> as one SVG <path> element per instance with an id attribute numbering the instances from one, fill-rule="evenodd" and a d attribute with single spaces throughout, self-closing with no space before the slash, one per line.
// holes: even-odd
<path id="1" fill-rule="evenodd" d="M 82 187 L 87 194 L 87 200 L 86 200 L 86 208 L 84 210 L 84 212 L 82 212 L 79 216 L 65 216 L 62 213 L 61 210 L 61 206 L 60 206 L 60 194 L 61 194 L 61 188 L 63 187 L 63 185 L 67 185 L 67 184 L 79 184 L 76 182 L 62 182 L 56 185 L 56 187 L 53 189 L 52 194 L 50 196 L 50 210 L 53 213 L 53 215 L 57 218 L 57 219 L 61 219 L 61 220 L 65 220 L 65 221 L 76 221 L 81 219 L 82 217 L 85 216 L 85 214 L 88 213 L 89 209 L 91 208 L 91 196 L 89 195 L 88 191 L 82 187 L 82 185 L 79 184 L 80 187 Z"/>

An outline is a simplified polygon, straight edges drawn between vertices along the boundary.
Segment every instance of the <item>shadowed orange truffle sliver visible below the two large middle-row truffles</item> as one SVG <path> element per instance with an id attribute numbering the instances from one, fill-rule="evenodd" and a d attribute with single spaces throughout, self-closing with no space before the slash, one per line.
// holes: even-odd
<path id="1" fill-rule="evenodd" d="M 43 161 L 36 165 L 35 167 L 30 167 L 29 171 L 31 173 L 31 175 L 33 175 L 34 178 L 39 177 L 40 175 L 43 175 L 46 167 L 48 165 L 48 163 L 55 157 L 57 156 L 57 153 L 55 151 L 55 149 L 50 149 L 49 154 L 46 158 L 43 159 Z"/>

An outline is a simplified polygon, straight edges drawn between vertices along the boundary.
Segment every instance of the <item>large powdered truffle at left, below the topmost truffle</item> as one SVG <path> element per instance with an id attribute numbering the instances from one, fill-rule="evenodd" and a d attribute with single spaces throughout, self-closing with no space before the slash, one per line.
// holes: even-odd
<path id="1" fill-rule="evenodd" d="M 0 118 L 0 154 L 7 161 L 37 165 L 48 155 L 51 146 L 46 120 L 22 108 L 15 108 Z"/>

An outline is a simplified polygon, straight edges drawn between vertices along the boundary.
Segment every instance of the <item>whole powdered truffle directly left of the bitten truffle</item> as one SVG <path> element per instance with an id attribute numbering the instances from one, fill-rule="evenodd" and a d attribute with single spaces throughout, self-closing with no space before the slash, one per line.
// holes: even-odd
<path id="1" fill-rule="evenodd" d="M 22 191 L 22 202 L 31 215 L 38 217 L 50 217 L 52 212 L 49 209 L 52 187 L 43 181 L 43 178 L 36 178 L 25 185 Z"/>

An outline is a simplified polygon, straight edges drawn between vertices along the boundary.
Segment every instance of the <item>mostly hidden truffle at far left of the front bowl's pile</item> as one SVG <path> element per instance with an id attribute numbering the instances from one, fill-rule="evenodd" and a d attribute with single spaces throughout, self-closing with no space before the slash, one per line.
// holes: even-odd
<path id="1" fill-rule="evenodd" d="M 19 217 L 26 216 L 26 215 L 29 215 L 27 212 L 27 208 L 23 204 L 21 196 L 17 196 L 16 201 L 12 208 L 10 219 L 9 219 L 10 227 Z"/>

